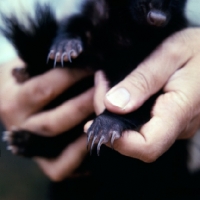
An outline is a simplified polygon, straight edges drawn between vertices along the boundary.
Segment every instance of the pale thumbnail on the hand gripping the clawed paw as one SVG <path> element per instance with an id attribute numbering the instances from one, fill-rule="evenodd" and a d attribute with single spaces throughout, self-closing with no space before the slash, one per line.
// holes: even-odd
<path id="1" fill-rule="evenodd" d="M 125 88 L 118 88 L 109 92 L 106 98 L 112 105 L 123 109 L 130 100 L 130 93 Z"/>

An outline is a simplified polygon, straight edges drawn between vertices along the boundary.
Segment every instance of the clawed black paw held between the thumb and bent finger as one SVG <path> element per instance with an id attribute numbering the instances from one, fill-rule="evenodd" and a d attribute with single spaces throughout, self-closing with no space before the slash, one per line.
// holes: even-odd
<path id="1" fill-rule="evenodd" d="M 100 147 L 107 142 L 113 143 L 122 136 L 122 132 L 127 130 L 127 124 L 124 120 L 113 113 L 102 113 L 95 118 L 88 129 L 88 146 L 90 151 L 93 150 L 94 144 L 97 144 L 97 154 L 99 155 Z"/>

